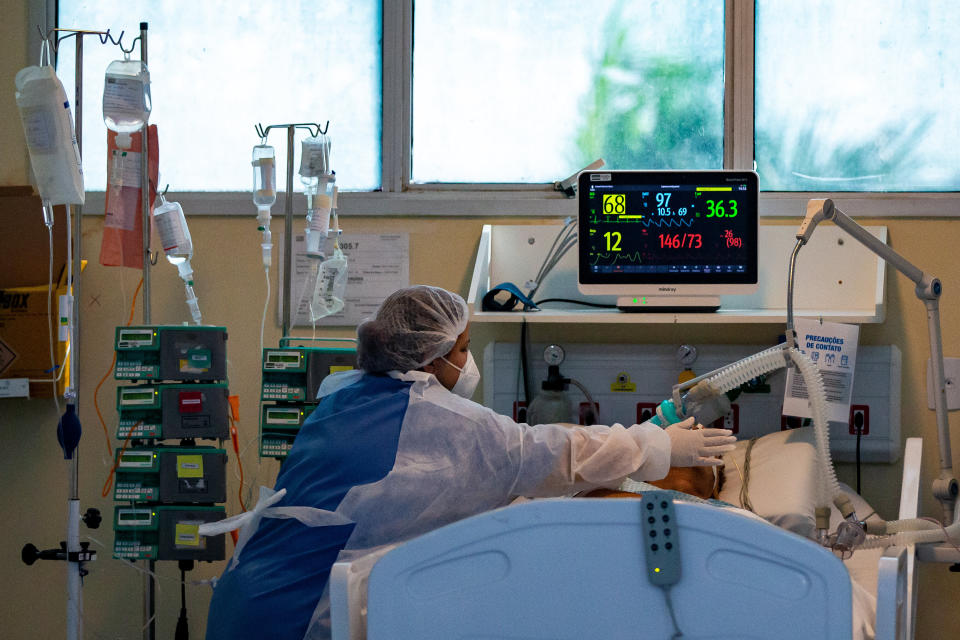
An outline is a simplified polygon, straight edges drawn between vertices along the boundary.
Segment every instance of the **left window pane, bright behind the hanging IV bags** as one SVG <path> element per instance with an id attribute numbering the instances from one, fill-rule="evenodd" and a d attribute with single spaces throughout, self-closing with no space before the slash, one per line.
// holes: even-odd
<path id="1" fill-rule="evenodd" d="M 63 28 L 106 30 L 130 47 L 149 24 L 148 67 L 161 187 L 248 191 L 254 125 L 330 121 L 342 189 L 380 186 L 380 3 L 377 0 L 60 0 Z M 83 168 L 88 191 L 106 185 L 103 74 L 119 48 L 84 38 Z M 133 57 L 139 58 L 139 46 Z M 73 102 L 73 39 L 58 74 Z M 299 168 L 300 139 L 295 144 Z M 271 131 L 277 185 L 286 180 L 286 130 Z M 299 181 L 294 180 L 295 188 Z"/>

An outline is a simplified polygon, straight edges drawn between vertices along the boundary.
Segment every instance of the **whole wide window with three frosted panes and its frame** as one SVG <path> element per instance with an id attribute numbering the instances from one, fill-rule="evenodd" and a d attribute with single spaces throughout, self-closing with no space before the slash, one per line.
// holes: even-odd
<path id="1" fill-rule="evenodd" d="M 59 19 L 128 45 L 150 23 L 161 182 L 214 212 L 249 213 L 255 123 L 320 119 L 345 213 L 568 215 L 551 183 L 598 157 L 756 166 L 764 215 L 810 192 L 942 215 L 960 185 L 950 0 L 60 0 Z M 89 78 L 119 51 L 85 56 L 84 155 L 104 157 Z"/>

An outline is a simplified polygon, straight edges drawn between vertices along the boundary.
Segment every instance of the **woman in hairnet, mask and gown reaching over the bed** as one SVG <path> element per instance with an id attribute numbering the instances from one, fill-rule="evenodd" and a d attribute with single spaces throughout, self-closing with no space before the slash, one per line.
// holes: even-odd
<path id="1" fill-rule="evenodd" d="M 207 640 L 329 637 L 334 562 L 379 557 L 520 496 L 719 465 L 733 448 L 730 431 L 697 428 L 692 418 L 663 429 L 527 425 L 499 415 L 470 400 L 480 374 L 468 317 L 459 295 L 415 286 L 357 328 L 361 370 L 321 384 L 278 493 L 261 492 L 214 588 Z"/>

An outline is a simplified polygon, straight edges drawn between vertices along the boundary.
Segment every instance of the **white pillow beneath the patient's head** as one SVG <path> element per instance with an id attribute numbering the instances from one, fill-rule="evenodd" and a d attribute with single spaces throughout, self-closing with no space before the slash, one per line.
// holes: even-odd
<path id="1" fill-rule="evenodd" d="M 720 499 L 746 508 L 741 501 L 742 474 L 747 440 L 724 454 Z M 753 511 L 765 520 L 816 538 L 814 509 L 817 499 L 817 451 L 813 427 L 778 431 L 757 438 L 750 450 L 747 484 Z"/>

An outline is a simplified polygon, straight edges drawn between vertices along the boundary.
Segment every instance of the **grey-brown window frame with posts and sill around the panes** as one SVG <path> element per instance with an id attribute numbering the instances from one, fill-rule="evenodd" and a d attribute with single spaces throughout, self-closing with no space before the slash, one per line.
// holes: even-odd
<path id="1" fill-rule="evenodd" d="M 573 216 L 576 202 L 552 184 L 411 184 L 413 114 L 414 0 L 381 0 L 382 112 L 381 188 L 340 194 L 343 215 L 371 216 Z M 724 151 L 723 168 L 754 167 L 755 0 L 724 0 Z M 56 0 L 29 0 L 29 24 L 53 25 Z M 52 18 L 52 19 L 51 19 Z M 154 37 L 162 37 L 157 34 Z M 29 52 L 39 50 L 31 29 Z M 336 144 L 336 142 L 334 142 Z M 562 180 L 567 176 L 557 176 Z M 279 185 L 278 185 L 279 186 Z M 284 185 L 285 187 L 285 185 Z M 252 215 L 249 193 L 179 192 L 191 215 Z M 769 192 L 760 194 L 761 216 L 802 216 L 806 202 L 829 197 L 852 216 L 950 217 L 960 211 L 960 185 L 950 192 Z M 278 198 L 278 205 L 283 198 Z M 103 193 L 88 192 L 87 212 L 103 211 Z M 242 213 L 230 213 L 239 211 Z M 293 211 L 305 214 L 303 198 Z"/>

